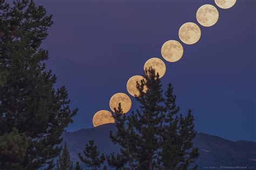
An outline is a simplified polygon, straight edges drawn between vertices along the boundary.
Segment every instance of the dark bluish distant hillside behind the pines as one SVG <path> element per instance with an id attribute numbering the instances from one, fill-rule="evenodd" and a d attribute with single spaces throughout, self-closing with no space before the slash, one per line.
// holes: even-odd
<path id="1" fill-rule="evenodd" d="M 109 132 L 116 131 L 113 124 L 96 128 L 84 128 L 76 132 L 64 132 L 63 142 L 68 144 L 70 156 L 78 161 L 78 153 L 82 152 L 88 140 L 95 140 L 100 152 L 109 154 L 118 152 L 119 146 L 112 144 Z M 217 136 L 198 133 L 194 146 L 199 148 L 198 169 L 219 166 L 247 166 L 256 169 L 256 143 L 251 141 L 230 141 Z"/>

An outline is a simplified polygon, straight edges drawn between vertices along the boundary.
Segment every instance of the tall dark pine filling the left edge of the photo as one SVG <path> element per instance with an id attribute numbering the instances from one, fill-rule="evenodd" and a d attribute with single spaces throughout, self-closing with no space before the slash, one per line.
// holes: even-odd
<path id="1" fill-rule="evenodd" d="M 56 76 L 45 70 L 48 51 L 41 44 L 51 18 L 33 1 L 0 1 L 0 72 L 8 73 L 0 86 L 0 136 L 16 128 L 29 139 L 17 169 L 52 168 L 61 134 L 77 112 L 65 87 L 54 89 Z"/>

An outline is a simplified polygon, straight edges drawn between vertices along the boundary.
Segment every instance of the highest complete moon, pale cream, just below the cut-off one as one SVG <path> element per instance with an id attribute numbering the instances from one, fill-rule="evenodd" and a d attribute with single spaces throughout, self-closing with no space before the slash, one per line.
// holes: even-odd
<path id="1" fill-rule="evenodd" d="M 206 4 L 197 10 L 197 21 L 203 26 L 212 26 L 218 19 L 219 12 L 213 5 Z"/>

